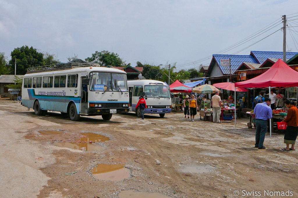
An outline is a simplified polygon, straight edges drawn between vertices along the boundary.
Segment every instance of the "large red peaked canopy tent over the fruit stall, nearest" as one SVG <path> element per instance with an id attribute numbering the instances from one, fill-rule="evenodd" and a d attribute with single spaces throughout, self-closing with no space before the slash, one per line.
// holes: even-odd
<path id="1" fill-rule="evenodd" d="M 289 67 L 281 59 L 278 59 L 278 61 L 263 74 L 246 81 L 235 83 L 235 86 L 245 88 L 297 87 L 298 72 Z"/>

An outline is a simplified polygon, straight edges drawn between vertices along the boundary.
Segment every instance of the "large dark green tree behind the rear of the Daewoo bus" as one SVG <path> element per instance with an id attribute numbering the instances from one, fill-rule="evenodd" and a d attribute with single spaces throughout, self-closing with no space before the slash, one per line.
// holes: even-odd
<path id="1" fill-rule="evenodd" d="M 43 53 L 38 52 L 37 49 L 28 47 L 27 45 L 15 48 L 11 54 L 10 74 L 15 73 L 15 59 L 16 59 L 16 74 L 24 75 L 29 67 L 41 66 L 44 64 Z"/>

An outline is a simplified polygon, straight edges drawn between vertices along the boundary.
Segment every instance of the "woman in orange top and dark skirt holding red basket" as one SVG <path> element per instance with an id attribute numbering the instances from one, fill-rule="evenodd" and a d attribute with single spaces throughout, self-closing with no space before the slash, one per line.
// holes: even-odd
<path id="1" fill-rule="evenodd" d="M 285 106 L 289 108 L 287 116 L 282 122 L 287 123 L 287 129 L 285 130 L 284 143 L 286 148 L 282 148 L 283 151 L 295 151 L 294 145 L 298 134 L 298 109 L 295 107 L 294 102 L 291 100 L 285 101 Z M 289 145 L 292 145 L 289 148 Z"/>

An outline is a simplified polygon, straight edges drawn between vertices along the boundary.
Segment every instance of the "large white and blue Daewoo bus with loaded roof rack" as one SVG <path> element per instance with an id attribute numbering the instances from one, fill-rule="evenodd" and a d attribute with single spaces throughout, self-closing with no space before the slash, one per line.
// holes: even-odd
<path id="1" fill-rule="evenodd" d="M 29 68 L 23 78 L 22 105 L 36 115 L 58 111 L 72 121 L 80 115 L 110 120 L 113 113 L 129 111 L 126 72 L 75 62 Z"/>

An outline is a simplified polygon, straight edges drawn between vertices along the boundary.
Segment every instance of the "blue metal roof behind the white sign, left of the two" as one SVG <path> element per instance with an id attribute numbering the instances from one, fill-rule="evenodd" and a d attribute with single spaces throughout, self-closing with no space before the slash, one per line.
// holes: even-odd
<path id="1" fill-rule="evenodd" d="M 221 66 L 221 59 L 231 59 L 231 74 L 233 74 L 239 66 L 243 62 L 247 63 L 258 63 L 257 60 L 252 55 L 224 55 L 224 54 L 213 54 L 212 55 L 217 64 L 219 65 L 219 68 L 223 72 L 223 74 L 230 74 L 230 66 Z"/>

